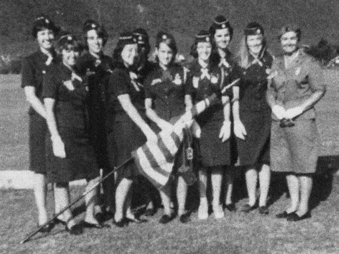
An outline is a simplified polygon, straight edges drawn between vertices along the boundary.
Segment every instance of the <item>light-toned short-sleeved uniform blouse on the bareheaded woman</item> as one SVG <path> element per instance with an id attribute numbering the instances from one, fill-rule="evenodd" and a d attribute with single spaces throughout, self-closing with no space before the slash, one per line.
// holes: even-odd
<path id="1" fill-rule="evenodd" d="M 300 106 L 315 91 L 324 91 L 323 73 L 319 63 L 307 55 L 302 49 L 298 50 L 297 57 L 288 68 L 285 67 L 284 56 L 279 56 L 273 61 L 272 73 L 277 75 L 273 79 L 270 93 L 276 98 L 276 103 L 285 109 Z M 277 120 L 274 114 L 273 119 Z M 298 119 L 315 118 L 314 107 L 302 113 Z"/>

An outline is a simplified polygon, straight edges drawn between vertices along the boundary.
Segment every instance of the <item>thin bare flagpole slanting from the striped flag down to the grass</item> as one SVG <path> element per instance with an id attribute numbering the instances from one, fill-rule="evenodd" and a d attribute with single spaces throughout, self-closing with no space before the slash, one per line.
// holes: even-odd
<path id="1" fill-rule="evenodd" d="M 45 227 L 46 225 L 53 223 L 53 221 L 60 215 L 62 214 L 64 211 L 66 211 L 68 208 L 70 208 L 71 206 L 73 206 L 74 204 L 78 203 L 78 201 L 83 198 L 84 196 L 86 196 L 89 192 L 93 191 L 94 188 L 96 188 L 99 184 L 101 184 L 108 176 L 112 175 L 114 172 L 118 171 L 120 168 L 122 168 L 125 164 L 127 164 L 128 162 L 132 161 L 133 158 L 129 157 L 126 161 L 124 161 L 122 164 L 120 164 L 118 167 L 115 167 L 111 172 L 109 172 L 107 175 L 105 175 L 103 178 L 101 178 L 94 186 L 92 186 L 91 189 L 85 191 L 82 195 L 80 195 L 76 200 L 74 200 L 71 204 L 69 204 L 68 206 L 66 206 L 65 208 L 63 208 L 60 212 L 58 212 L 57 214 L 55 214 L 51 219 L 49 219 L 46 223 L 44 223 L 43 225 L 39 226 L 35 231 L 31 232 L 28 234 L 28 236 L 23 239 L 20 244 L 24 244 L 25 242 L 29 241 L 29 239 L 31 239 L 32 236 L 36 235 L 43 227 Z"/>

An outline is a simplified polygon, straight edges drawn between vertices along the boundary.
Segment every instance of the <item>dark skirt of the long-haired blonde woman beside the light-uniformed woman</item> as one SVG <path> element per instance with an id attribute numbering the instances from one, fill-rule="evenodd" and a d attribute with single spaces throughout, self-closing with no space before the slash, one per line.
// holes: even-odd
<path id="1" fill-rule="evenodd" d="M 237 138 L 240 166 L 270 164 L 271 111 L 240 112 L 245 140 Z"/>

